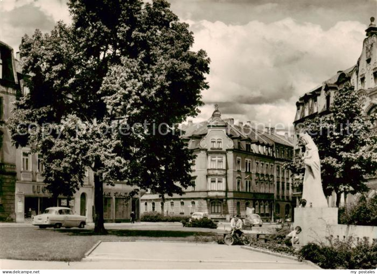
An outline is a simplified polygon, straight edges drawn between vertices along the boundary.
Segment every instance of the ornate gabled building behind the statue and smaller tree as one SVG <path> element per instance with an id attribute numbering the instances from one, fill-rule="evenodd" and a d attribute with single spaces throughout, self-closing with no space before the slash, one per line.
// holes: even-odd
<path id="1" fill-rule="evenodd" d="M 339 70 L 333 77 L 322 84 L 305 93 L 296 102 L 297 112 L 294 119 L 294 152 L 295 155 L 300 154 L 300 148 L 297 147 L 297 138 L 300 131 L 300 123 L 305 119 L 313 118 L 314 116 L 328 115 L 329 108 L 333 103 L 334 93 L 345 84 L 351 85 L 359 93 L 362 98 L 363 109 L 366 115 L 370 115 L 377 111 L 377 27 L 374 23 L 374 18 L 371 18 L 366 31 L 366 38 L 363 41 L 363 48 L 356 64 L 346 70 Z M 377 133 L 377 124 L 371 129 L 372 134 Z M 298 181 L 300 178 L 296 178 Z M 372 192 L 375 193 L 377 189 L 377 177 L 369 178 L 367 183 L 371 187 Z M 294 190 L 297 204 L 301 197 L 301 190 L 297 188 Z M 340 204 L 343 204 L 347 199 L 349 202 L 354 200 L 351 195 L 344 195 L 341 198 Z M 329 206 L 334 207 L 336 204 L 336 195 L 328 197 Z"/>

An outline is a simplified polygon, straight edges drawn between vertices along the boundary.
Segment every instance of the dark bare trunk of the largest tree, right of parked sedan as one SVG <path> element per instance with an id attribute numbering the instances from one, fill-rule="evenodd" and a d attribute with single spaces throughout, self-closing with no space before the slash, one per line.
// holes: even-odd
<path id="1" fill-rule="evenodd" d="M 96 174 L 94 175 L 94 208 L 94 232 L 107 234 L 103 219 L 103 183 L 100 180 L 100 176 Z"/>

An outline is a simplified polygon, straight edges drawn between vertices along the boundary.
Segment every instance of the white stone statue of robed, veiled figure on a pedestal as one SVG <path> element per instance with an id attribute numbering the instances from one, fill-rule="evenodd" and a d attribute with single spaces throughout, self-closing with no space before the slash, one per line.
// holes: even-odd
<path id="1" fill-rule="evenodd" d="M 318 148 L 307 133 L 302 134 L 300 137 L 306 147 L 302 157 L 305 164 L 302 199 L 306 200 L 306 207 L 328 207 L 322 188 Z"/>

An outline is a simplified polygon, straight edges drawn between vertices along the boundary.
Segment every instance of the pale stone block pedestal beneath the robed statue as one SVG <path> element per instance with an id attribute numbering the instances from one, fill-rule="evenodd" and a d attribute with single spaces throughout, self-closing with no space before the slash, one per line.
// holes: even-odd
<path id="1" fill-rule="evenodd" d="M 298 235 L 300 245 L 310 242 L 326 243 L 330 236 L 328 225 L 338 223 L 337 207 L 297 207 L 294 208 L 294 228 L 299 226 L 302 231 Z"/>

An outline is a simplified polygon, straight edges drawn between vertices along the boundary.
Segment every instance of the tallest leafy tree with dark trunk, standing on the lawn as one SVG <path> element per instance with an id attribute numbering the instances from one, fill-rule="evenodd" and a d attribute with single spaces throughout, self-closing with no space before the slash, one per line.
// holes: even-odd
<path id="1" fill-rule="evenodd" d="M 190 51 L 188 24 L 164 0 L 68 6 L 72 24 L 22 39 L 31 91 L 17 101 L 10 129 L 16 145 L 43 153 L 55 196 L 72 196 L 85 168 L 93 170 L 95 231 L 105 233 L 104 184 L 162 195 L 191 185 L 193 156 L 174 124 L 198 113 L 210 60 Z"/>

